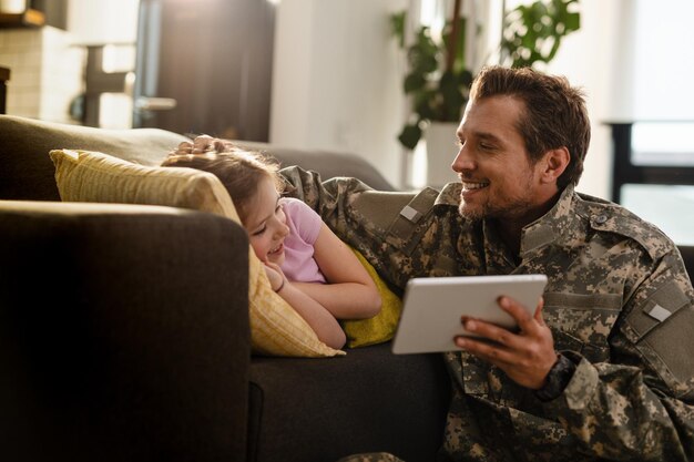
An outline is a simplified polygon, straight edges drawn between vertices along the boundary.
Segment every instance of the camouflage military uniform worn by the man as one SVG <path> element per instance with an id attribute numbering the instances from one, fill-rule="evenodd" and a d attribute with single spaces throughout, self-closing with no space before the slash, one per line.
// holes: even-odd
<path id="1" fill-rule="evenodd" d="M 411 277 L 545 274 L 544 319 L 576 365 L 549 402 L 466 352 L 445 355 L 453 382 L 440 460 L 694 460 L 694 290 L 657 228 L 568 187 L 511 255 L 488 222 L 439 193 L 371 191 L 354 178 L 283 174 L 395 287 Z M 350 461 L 396 460 L 360 454 Z"/>

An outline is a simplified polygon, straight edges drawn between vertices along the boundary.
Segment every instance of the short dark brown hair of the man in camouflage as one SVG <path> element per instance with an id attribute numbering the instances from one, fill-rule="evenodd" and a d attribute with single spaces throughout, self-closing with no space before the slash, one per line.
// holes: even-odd
<path id="1" fill-rule="evenodd" d="M 548 151 L 565 146 L 571 161 L 557 185 L 563 189 L 578 184 L 591 140 L 583 92 L 572 88 L 563 76 L 542 74 L 530 68 L 483 68 L 472 83 L 470 101 L 499 95 L 524 103 L 517 129 L 530 161 L 538 162 Z"/>

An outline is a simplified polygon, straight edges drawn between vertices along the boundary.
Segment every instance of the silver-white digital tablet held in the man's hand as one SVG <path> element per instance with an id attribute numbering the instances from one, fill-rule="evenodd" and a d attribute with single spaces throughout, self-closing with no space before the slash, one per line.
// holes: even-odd
<path id="1" fill-rule="evenodd" d="M 547 276 L 455 276 L 410 279 L 405 288 L 402 314 L 392 341 L 392 352 L 423 353 L 460 350 L 457 336 L 471 336 L 460 318 L 469 316 L 507 329 L 517 329 L 513 318 L 497 299 L 504 295 L 534 314 Z"/>

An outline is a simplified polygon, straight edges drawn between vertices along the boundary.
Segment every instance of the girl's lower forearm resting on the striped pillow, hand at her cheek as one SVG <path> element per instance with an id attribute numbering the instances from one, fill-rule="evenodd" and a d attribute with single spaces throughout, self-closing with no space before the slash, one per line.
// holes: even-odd
<path id="1" fill-rule="evenodd" d="M 345 346 L 347 338 L 343 328 L 324 306 L 290 283 L 276 264 L 266 261 L 265 271 L 273 290 L 304 318 L 320 341 L 335 349 Z"/>

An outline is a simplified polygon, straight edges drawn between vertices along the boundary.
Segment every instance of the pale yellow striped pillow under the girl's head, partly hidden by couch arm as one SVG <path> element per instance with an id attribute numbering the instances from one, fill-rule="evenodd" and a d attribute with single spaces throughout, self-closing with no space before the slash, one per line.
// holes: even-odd
<path id="1" fill-rule="evenodd" d="M 89 151 L 55 150 L 50 156 L 62 201 L 167 205 L 216 213 L 241 223 L 226 188 L 211 173 L 136 165 Z M 254 352 L 290 357 L 345 355 L 318 340 L 304 318 L 275 294 L 251 246 L 248 261 Z"/>

